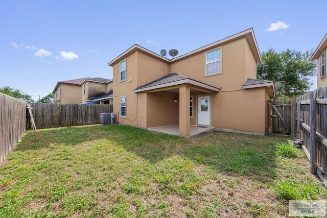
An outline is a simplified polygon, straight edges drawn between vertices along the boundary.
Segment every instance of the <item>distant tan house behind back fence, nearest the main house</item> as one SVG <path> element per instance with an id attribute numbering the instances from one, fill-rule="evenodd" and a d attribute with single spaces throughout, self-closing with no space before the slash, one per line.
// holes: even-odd
<path id="1" fill-rule="evenodd" d="M 112 80 L 87 78 L 79 85 L 83 104 L 112 104 Z"/>

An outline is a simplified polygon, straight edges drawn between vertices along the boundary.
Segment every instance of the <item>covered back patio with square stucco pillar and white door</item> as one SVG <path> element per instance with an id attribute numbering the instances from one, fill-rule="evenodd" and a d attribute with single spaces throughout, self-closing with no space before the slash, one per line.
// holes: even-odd
<path id="1" fill-rule="evenodd" d="M 211 95 L 219 88 L 173 73 L 133 91 L 146 93 L 148 130 L 189 137 L 213 129 Z M 202 106 L 198 98 L 204 95 L 206 105 Z M 207 114 L 204 125 L 199 119 L 202 111 Z"/>

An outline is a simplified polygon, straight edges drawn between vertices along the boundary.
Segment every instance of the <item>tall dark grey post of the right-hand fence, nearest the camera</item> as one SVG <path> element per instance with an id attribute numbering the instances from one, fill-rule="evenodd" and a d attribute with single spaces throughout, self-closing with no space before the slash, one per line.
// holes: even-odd
<path id="1" fill-rule="evenodd" d="M 310 101 L 310 168 L 312 174 L 317 174 L 317 150 L 316 150 L 316 132 L 317 132 L 317 119 L 316 119 L 316 99 Z"/>

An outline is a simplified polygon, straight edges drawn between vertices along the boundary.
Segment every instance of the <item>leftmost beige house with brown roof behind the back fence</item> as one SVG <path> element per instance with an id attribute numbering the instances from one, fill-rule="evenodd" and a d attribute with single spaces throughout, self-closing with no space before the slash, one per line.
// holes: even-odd
<path id="1" fill-rule="evenodd" d="M 55 95 L 55 103 L 81 104 L 82 95 L 81 86 L 79 84 L 85 79 L 89 79 L 89 77 L 57 82 L 52 92 Z"/>

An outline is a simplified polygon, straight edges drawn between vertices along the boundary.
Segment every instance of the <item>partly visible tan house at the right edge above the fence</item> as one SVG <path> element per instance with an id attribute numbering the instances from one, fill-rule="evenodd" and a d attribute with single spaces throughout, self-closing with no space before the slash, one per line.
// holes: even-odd
<path id="1" fill-rule="evenodd" d="M 327 50 L 327 34 L 323 37 L 316 51 L 312 54 L 310 60 L 317 61 L 317 87 L 327 86 L 326 78 L 326 50 Z"/>

